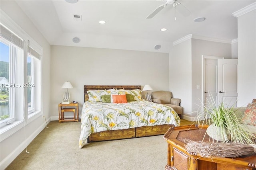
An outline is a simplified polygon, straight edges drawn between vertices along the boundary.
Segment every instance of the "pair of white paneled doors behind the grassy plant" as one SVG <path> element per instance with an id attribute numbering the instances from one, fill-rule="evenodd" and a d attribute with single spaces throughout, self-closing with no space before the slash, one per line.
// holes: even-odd
<path id="1" fill-rule="evenodd" d="M 203 55 L 202 71 L 202 112 L 204 106 L 218 106 L 222 101 L 226 106 L 236 103 L 237 59 Z"/>

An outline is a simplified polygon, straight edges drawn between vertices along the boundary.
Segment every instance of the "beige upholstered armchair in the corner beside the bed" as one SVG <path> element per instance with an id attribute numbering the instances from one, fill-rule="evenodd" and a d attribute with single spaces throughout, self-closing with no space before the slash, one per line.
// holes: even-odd
<path id="1" fill-rule="evenodd" d="M 172 98 L 172 92 L 156 91 L 151 93 L 152 102 L 170 106 L 178 114 L 182 114 L 182 107 L 180 106 L 180 99 Z"/>

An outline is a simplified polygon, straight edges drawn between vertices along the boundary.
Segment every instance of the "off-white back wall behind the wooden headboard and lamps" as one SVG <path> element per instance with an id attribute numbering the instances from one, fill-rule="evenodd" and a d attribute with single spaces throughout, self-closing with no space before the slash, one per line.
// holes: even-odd
<path id="1" fill-rule="evenodd" d="M 84 85 L 149 84 L 153 91 L 168 90 L 168 53 L 130 50 L 51 47 L 51 116 L 58 119 L 58 104 L 70 81 L 71 100 L 84 103 Z M 80 114 L 80 113 L 79 113 Z"/>

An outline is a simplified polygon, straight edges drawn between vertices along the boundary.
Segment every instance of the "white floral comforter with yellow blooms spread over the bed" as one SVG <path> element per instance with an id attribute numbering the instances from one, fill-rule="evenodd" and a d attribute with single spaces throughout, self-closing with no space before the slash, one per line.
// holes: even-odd
<path id="1" fill-rule="evenodd" d="M 90 134 L 106 130 L 163 124 L 180 125 L 180 117 L 171 107 L 144 100 L 122 104 L 87 101 L 82 107 L 79 147 Z"/>

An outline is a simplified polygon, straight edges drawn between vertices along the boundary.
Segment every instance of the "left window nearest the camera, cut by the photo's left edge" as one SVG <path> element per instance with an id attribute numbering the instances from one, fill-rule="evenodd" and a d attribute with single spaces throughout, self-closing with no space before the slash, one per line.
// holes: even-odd
<path id="1" fill-rule="evenodd" d="M 16 117 L 16 96 L 22 84 L 23 40 L 1 25 L 0 36 L 0 127 L 20 119 Z M 18 64 L 21 62 L 21 66 Z"/>

